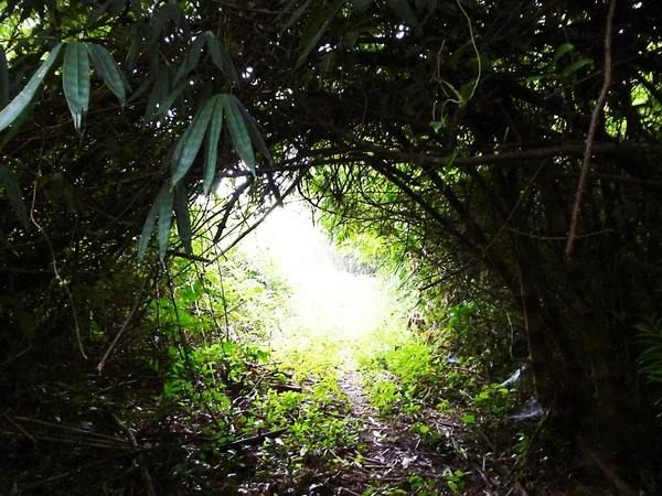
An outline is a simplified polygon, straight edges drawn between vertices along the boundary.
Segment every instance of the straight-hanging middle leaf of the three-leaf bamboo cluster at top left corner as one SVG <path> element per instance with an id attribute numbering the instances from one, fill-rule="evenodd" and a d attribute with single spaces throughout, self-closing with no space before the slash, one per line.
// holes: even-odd
<path id="1" fill-rule="evenodd" d="M 62 80 L 74 127 L 79 131 L 83 112 L 87 111 L 89 105 L 89 57 L 84 43 L 73 42 L 67 45 Z"/>

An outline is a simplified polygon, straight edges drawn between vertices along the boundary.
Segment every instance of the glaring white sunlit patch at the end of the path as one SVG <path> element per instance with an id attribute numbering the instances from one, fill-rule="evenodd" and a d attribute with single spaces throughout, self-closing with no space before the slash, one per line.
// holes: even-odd
<path id="1" fill-rule="evenodd" d="M 299 375 L 332 379 L 337 370 L 355 367 L 354 351 L 402 325 L 386 284 L 346 270 L 346 257 L 302 207 L 274 212 L 242 249 L 268 259 L 291 289 L 289 317 L 273 333 L 270 346 Z"/>

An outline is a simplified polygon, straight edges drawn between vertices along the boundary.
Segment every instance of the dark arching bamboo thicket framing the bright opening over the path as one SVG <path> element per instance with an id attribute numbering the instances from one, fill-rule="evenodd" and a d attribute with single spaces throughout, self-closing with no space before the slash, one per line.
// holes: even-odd
<path id="1" fill-rule="evenodd" d="M 606 446 L 659 488 L 658 2 L 0 11 L 6 416 L 40 410 L 40 374 L 152 353 L 140 327 L 172 271 L 298 195 L 335 236 L 391 239 L 428 300 L 512 315 L 484 345 L 528 359 L 555 455 Z"/>

